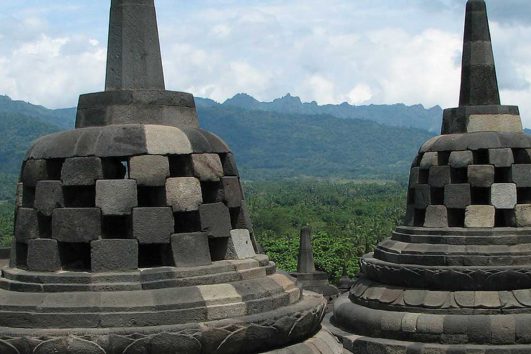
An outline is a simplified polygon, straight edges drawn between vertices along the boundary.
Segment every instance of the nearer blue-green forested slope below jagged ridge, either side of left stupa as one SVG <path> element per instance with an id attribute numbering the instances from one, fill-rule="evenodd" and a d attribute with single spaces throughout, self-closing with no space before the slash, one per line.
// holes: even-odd
<path id="1" fill-rule="evenodd" d="M 295 114 L 198 99 L 201 126 L 236 153 L 244 178 L 405 176 L 426 130 L 331 114 Z M 393 106 L 389 106 L 393 107 Z M 70 129 L 75 109 L 49 110 L 0 96 L 0 173 L 17 174 L 38 136 Z"/>

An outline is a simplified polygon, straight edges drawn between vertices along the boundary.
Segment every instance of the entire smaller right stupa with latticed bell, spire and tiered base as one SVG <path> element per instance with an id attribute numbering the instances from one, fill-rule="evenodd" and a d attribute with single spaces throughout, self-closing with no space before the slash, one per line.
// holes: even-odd
<path id="1" fill-rule="evenodd" d="M 407 217 L 361 259 L 331 323 L 351 353 L 531 353 L 531 137 L 500 105 L 483 0 L 469 0 L 458 108 L 410 174 Z"/>

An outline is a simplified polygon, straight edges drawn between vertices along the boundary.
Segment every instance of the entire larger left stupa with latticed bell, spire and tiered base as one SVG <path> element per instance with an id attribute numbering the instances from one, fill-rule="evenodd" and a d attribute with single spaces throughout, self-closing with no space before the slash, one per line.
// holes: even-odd
<path id="1" fill-rule="evenodd" d="M 341 352 L 325 299 L 256 254 L 230 149 L 165 90 L 153 0 L 112 0 L 105 88 L 23 163 L 0 353 Z"/>

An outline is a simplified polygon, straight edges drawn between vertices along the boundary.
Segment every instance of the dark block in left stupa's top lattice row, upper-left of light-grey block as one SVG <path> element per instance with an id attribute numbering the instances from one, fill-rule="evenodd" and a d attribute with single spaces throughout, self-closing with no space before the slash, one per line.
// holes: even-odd
<path id="1" fill-rule="evenodd" d="M 103 167 L 99 157 L 73 157 L 66 159 L 61 170 L 65 186 L 92 186 L 103 178 Z"/>

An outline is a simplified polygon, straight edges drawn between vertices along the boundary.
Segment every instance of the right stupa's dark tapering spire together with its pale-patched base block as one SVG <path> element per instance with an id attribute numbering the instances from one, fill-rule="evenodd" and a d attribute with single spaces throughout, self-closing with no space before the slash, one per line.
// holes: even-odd
<path id="1" fill-rule="evenodd" d="M 459 107 L 444 111 L 442 134 L 522 132 L 517 106 L 500 103 L 484 0 L 468 0 Z"/>

